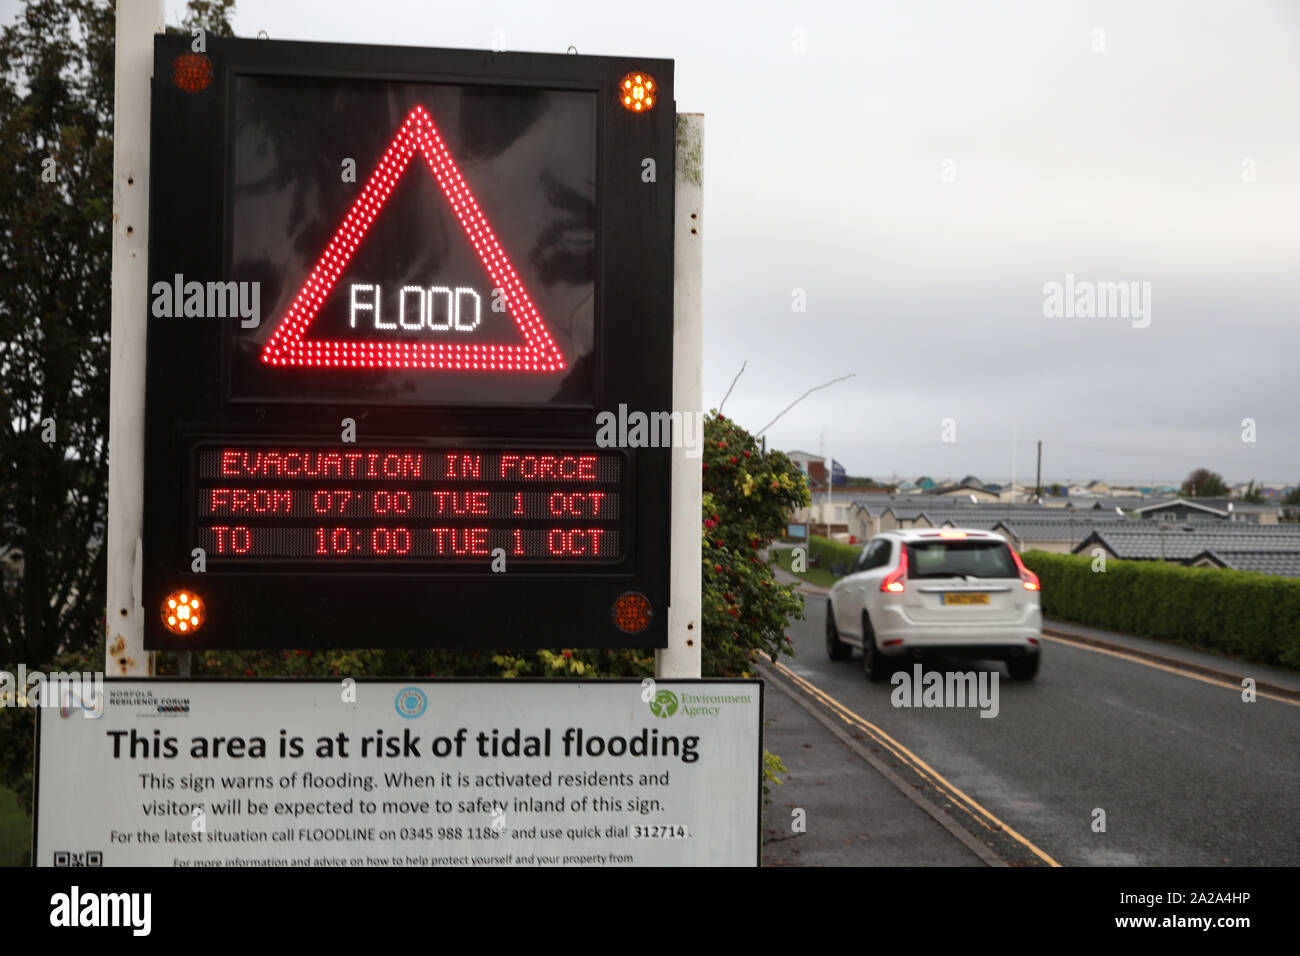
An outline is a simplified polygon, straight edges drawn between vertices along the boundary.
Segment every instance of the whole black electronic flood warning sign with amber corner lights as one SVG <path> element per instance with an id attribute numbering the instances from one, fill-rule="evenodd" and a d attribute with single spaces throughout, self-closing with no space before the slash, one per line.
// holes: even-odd
<path id="1" fill-rule="evenodd" d="M 672 61 L 155 40 L 146 646 L 664 646 Z"/>

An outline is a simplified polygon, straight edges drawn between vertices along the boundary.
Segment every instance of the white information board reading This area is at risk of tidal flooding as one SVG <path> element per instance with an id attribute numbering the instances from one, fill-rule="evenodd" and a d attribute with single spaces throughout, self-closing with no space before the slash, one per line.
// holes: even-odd
<path id="1" fill-rule="evenodd" d="M 112 680 L 40 714 L 40 866 L 758 864 L 757 680 Z"/>

